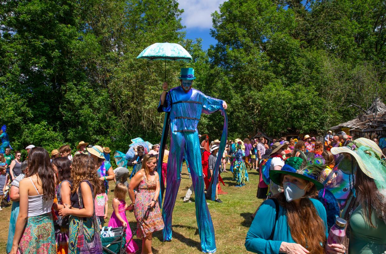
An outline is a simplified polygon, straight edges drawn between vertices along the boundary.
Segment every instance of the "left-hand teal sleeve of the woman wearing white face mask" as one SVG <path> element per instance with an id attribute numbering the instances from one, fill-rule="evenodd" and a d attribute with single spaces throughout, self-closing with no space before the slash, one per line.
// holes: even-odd
<path id="1" fill-rule="evenodd" d="M 262 203 L 255 215 L 251 227 L 245 238 L 245 248 L 247 251 L 259 254 L 278 254 L 282 241 L 266 240 L 271 235 L 273 224 L 275 223 L 275 203 L 273 200 L 266 200 Z M 280 227 L 276 225 L 276 232 Z"/>

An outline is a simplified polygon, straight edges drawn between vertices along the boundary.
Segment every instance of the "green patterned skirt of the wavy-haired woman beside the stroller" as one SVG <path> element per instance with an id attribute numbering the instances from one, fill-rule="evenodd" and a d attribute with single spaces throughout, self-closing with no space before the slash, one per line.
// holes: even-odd
<path id="1" fill-rule="evenodd" d="M 70 215 L 69 217 L 69 240 L 68 240 L 68 254 L 78 254 L 78 230 L 79 222 L 83 220 L 83 232 L 85 234 L 85 240 L 91 242 L 94 237 L 93 218 L 80 218 L 77 216 Z M 97 225 L 99 228 L 99 225 Z"/>

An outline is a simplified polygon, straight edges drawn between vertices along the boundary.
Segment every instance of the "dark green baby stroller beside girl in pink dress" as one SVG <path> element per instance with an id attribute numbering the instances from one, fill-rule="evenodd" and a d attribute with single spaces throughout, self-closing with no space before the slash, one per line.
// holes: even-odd
<path id="1" fill-rule="evenodd" d="M 131 238 L 128 242 L 126 242 L 126 228 L 125 227 L 115 227 L 115 228 L 108 228 L 103 227 L 101 231 L 101 240 L 102 240 L 102 249 L 103 254 L 125 254 L 126 253 L 126 246 L 130 243 L 130 241 L 133 239 L 133 236 L 137 229 L 141 227 L 144 220 L 149 217 L 150 212 L 150 206 L 147 207 L 147 210 L 145 212 L 144 217 L 142 218 L 141 222 L 137 225 L 137 227 L 133 230 L 131 234 Z M 107 233 L 103 236 L 103 232 L 105 229 L 108 229 Z M 113 235 L 113 236 L 110 236 Z"/>

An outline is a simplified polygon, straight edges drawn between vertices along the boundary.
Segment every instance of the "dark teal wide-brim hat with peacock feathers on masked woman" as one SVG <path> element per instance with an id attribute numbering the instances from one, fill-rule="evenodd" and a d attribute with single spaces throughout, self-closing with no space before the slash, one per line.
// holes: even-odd
<path id="1" fill-rule="evenodd" d="M 318 176 L 323 168 L 322 159 L 307 159 L 305 154 L 301 153 L 301 157 L 289 157 L 286 159 L 281 170 L 270 170 L 269 177 L 277 185 L 283 186 L 282 175 L 289 174 L 310 181 L 316 186 L 317 190 L 321 190 L 324 186 L 318 181 Z"/>

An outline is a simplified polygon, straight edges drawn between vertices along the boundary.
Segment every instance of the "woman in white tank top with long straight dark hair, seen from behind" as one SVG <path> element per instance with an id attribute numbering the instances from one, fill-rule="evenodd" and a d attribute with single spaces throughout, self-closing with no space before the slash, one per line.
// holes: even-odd
<path id="1" fill-rule="evenodd" d="M 29 254 L 56 253 L 51 213 L 55 181 L 48 152 L 34 147 L 28 156 L 28 174 L 19 184 L 20 208 L 11 254 L 16 254 L 18 249 Z"/>

